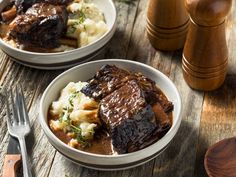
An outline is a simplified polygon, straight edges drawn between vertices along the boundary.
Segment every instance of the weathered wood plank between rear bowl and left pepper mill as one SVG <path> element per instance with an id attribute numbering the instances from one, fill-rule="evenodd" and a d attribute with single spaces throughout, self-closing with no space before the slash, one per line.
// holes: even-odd
<path id="1" fill-rule="evenodd" d="M 156 51 L 150 45 L 145 29 L 147 5 L 148 3 L 145 0 L 139 2 L 127 58 L 151 65 L 154 68 L 158 68 L 164 74 L 169 75 L 171 58 L 175 53 Z"/>

